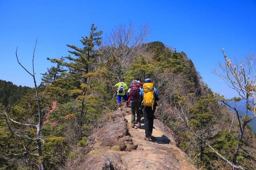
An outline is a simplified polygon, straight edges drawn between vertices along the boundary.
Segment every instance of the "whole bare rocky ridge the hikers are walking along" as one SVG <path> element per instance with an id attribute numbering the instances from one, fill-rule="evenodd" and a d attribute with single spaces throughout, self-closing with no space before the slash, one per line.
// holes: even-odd
<path id="1" fill-rule="evenodd" d="M 154 119 L 152 140 L 144 140 L 142 126 L 132 128 L 130 108 L 114 111 L 102 121 L 98 132 L 87 139 L 66 166 L 69 170 L 193 170 L 175 142 L 172 131 Z"/>

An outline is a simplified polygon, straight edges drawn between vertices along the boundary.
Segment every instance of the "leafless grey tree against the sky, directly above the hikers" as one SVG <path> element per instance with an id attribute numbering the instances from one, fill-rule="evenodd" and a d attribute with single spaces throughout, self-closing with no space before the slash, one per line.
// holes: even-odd
<path id="1" fill-rule="evenodd" d="M 146 42 L 148 34 L 148 25 L 141 26 L 138 31 L 134 30 L 132 23 L 115 27 L 99 49 L 101 57 L 98 62 L 106 64 L 109 59 L 116 59 L 120 65 L 112 65 L 112 73 L 120 79 L 128 70 L 133 57 L 146 49 L 143 43 Z"/>

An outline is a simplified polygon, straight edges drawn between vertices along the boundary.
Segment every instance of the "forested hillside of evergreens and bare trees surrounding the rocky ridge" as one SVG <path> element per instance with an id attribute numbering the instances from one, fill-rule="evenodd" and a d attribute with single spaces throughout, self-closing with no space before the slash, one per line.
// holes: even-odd
<path id="1" fill-rule="evenodd" d="M 86 146 L 87 137 L 100 128 L 110 111 L 116 109 L 113 85 L 122 77 L 127 84 L 134 77 L 140 77 L 154 81 L 160 97 L 156 116 L 172 130 L 177 146 L 187 154 L 190 162 L 199 169 L 231 169 L 232 166 L 216 152 L 232 162 L 240 135 L 238 120 L 235 119 L 229 130 L 232 112 L 221 105 L 220 96 L 203 83 L 185 52 L 166 47 L 162 42 L 146 43 L 147 35 L 146 26 L 136 33 L 131 25 L 121 25 L 103 41 L 102 31 L 92 25 L 89 34 L 80 40 L 79 47 L 67 45 L 70 55 L 48 58 L 56 66 L 43 74 L 38 87 L 43 156 L 34 156 L 37 150 L 26 152 L 36 148 L 35 142 L 12 134 L 1 115 L 2 168 L 36 169 L 41 162 L 47 169 L 65 168 L 67 160 Z M 6 88 L 1 85 L 1 89 Z M 12 105 L 9 117 L 23 123 L 38 123 L 34 90 L 27 89 L 25 95 L 18 95 L 24 100 Z M 8 95 L 18 94 L 15 86 L 8 91 L 6 97 L 1 98 L 3 106 L 7 106 Z M 12 99 L 11 95 L 12 102 L 18 101 L 16 98 Z M 34 127 L 10 124 L 22 136 L 36 135 Z M 246 126 L 236 165 L 256 168 L 255 140 L 255 134 Z"/>

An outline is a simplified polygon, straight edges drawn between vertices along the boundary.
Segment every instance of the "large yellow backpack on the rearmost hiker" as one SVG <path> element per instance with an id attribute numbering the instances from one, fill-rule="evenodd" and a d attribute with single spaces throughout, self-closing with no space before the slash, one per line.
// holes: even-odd
<path id="1" fill-rule="evenodd" d="M 152 110 L 153 110 L 153 107 L 154 107 L 154 102 L 155 102 L 155 99 L 154 99 L 154 84 L 153 83 L 144 83 L 143 84 L 143 105 L 144 106 L 148 106 L 148 107 L 152 107 Z"/>

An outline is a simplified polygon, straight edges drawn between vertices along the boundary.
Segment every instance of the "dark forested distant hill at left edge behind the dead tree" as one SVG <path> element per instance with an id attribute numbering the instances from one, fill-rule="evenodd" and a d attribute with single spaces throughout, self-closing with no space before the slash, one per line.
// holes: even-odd
<path id="1" fill-rule="evenodd" d="M 31 87 L 22 87 L 14 85 L 10 81 L 0 80 L 0 103 L 4 106 L 8 105 L 9 97 L 11 97 L 12 105 L 19 101 Z"/>

